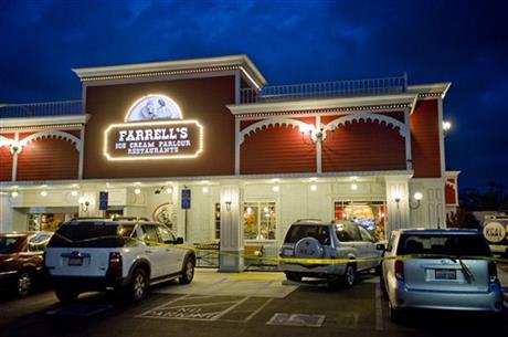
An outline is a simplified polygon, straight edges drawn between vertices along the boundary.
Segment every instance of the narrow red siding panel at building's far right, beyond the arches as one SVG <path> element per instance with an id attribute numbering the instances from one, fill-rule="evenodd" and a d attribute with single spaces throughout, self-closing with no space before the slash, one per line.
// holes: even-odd
<path id="1" fill-rule="evenodd" d="M 420 101 L 410 120 L 414 178 L 441 177 L 437 99 Z"/>

